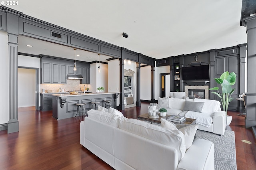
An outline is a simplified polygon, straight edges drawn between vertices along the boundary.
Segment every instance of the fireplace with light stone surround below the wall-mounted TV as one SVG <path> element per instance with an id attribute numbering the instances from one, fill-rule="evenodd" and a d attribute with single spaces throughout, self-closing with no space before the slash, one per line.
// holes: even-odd
<path id="1" fill-rule="evenodd" d="M 190 99 L 199 98 L 199 99 L 209 99 L 209 86 L 184 86 L 186 96 Z"/>

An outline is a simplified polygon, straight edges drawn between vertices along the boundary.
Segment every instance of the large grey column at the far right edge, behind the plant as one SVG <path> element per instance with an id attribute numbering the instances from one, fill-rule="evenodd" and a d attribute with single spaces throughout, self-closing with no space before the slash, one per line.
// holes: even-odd
<path id="1" fill-rule="evenodd" d="M 256 16 L 242 20 L 247 33 L 247 93 L 245 127 L 256 126 Z M 242 84 L 242 83 L 241 83 Z"/>

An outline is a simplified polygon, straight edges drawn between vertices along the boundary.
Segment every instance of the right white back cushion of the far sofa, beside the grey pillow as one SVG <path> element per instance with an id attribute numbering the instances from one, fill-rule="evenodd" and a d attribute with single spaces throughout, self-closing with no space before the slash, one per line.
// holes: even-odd
<path id="1" fill-rule="evenodd" d="M 204 102 L 202 113 L 214 113 L 220 109 L 220 102 L 216 100 L 195 98 L 194 102 Z"/>

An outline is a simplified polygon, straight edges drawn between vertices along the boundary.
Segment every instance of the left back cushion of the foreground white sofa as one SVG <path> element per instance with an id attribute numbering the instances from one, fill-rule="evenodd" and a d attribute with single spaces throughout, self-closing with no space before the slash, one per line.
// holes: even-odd
<path id="1" fill-rule="evenodd" d="M 87 112 L 88 117 L 91 119 L 106 123 L 108 125 L 112 125 L 114 127 L 118 127 L 117 120 L 120 118 L 119 115 L 114 115 L 112 113 L 104 112 L 104 111 L 96 111 L 91 109 Z"/>

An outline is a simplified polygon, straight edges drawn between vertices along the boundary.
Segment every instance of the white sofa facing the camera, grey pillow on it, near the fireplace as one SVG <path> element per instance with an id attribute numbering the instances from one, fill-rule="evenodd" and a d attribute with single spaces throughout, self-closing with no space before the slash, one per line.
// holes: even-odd
<path id="1" fill-rule="evenodd" d="M 209 99 L 158 98 L 158 107 L 166 108 L 168 115 L 180 115 L 196 119 L 198 129 L 222 135 L 226 129 L 226 113 L 220 102 Z"/>

